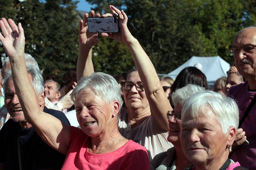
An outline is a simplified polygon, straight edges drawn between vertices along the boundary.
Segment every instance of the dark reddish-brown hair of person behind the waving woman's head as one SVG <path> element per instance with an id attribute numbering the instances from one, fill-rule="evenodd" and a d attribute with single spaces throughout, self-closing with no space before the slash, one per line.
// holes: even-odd
<path id="1" fill-rule="evenodd" d="M 77 82 L 76 71 L 70 70 L 70 71 L 66 72 L 62 76 L 62 82 L 60 84 L 60 89 L 63 86 L 66 86 L 65 94 L 67 94 L 70 90 L 72 90 L 72 85 L 73 85 L 74 81 Z"/>

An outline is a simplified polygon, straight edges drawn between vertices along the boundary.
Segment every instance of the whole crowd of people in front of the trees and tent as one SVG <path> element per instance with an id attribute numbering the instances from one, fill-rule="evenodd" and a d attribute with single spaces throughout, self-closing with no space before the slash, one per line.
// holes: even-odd
<path id="1" fill-rule="evenodd" d="M 98 34 L 84 21 L 100 14 L 80 21 L 77 69 L 60 84 L 24 52 L 21 24 L 0 20 L 0 170 L 256 169 L 256 27 L 238 32 L 235 65 L 210 89 L 196 67 L 159 79 L 126 13 L 109 9 L 102 17 L 117 17 L 120 31 L 101 36 L 124 43 L 136 65 L 116 79 L 93 69 Z"/>

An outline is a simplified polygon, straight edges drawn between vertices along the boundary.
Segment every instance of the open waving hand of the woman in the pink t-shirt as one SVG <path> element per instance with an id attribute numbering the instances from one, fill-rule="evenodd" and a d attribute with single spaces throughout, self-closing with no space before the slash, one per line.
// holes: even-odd
<path id="1" fill-rule="evenodd" d="M 2 18 L 0 27 L 3 32 L 3 35 L 0 33 L 0 41 L 3 43 L 6 54 L 10 58 L 24 54 L 25 36 L 21 24 L 17 26 L 12 19 L 8 19 L 7 22 L 5 18 Z"/>

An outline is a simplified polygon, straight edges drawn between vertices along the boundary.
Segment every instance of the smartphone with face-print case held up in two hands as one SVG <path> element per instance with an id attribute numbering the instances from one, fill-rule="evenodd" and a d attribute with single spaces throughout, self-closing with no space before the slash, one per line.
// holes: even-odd
<path id="1" fill-rule="evenodd" d="M 96 32 L 119 32 L 117 17 L 88 17 L 88 31 Z"/>

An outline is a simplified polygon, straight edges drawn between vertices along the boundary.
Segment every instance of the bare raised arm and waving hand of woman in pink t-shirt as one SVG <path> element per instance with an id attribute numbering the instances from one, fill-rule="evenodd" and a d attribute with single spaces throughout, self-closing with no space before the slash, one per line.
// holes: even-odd
<path id="1" fill-rule="evenodd" d="M 7 22 L 2 18 L 0 27 L 3 32 L 3 35 L 0 33 L 0 40 L 10 58 L 12 79 L 25 119 L 48 145 L 66 154 L 69 146 L 69 126 L 40 109 L 25 65 L 25 36 L 21 24 L 17 26 L 12 19 L 8 19 Z"/>

